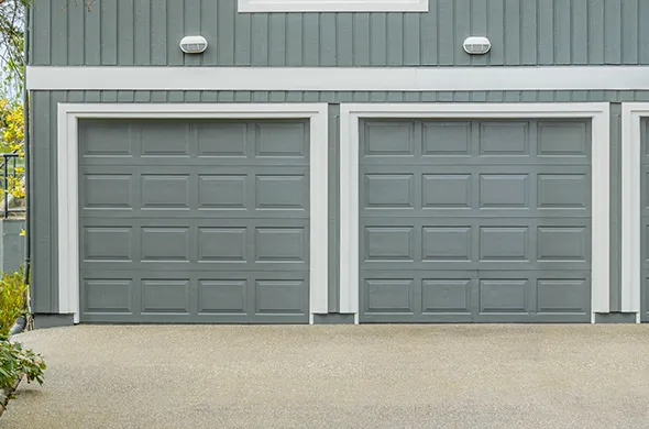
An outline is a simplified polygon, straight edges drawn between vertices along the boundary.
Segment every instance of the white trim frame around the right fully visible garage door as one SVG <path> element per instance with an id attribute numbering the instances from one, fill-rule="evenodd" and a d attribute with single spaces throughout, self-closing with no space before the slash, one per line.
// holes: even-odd
<path id="1" fill-rule="evenodd" d="M 588 118 L 592 120 L 591 321 L 609 311 L 608 103 L 342 103 L 340 311 L 359 322 L 359 121 L 362 118 Z"/>

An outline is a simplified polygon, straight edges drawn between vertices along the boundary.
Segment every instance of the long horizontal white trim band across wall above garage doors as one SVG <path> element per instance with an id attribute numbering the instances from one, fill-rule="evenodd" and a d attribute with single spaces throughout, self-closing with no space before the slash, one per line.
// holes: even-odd
<path id="1" fill-rule="evenodd" d="M 52 67 L 30 90 L 488 91 L 645 90 L 649 66 Z"/>

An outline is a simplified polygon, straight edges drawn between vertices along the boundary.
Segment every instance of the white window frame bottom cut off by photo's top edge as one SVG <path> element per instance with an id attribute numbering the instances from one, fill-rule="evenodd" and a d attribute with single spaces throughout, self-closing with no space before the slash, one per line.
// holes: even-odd
<path id="1" fill-rule="evenodd" d="M 428 12 L 429 0 L 239 0 L 239 12 Z"/>

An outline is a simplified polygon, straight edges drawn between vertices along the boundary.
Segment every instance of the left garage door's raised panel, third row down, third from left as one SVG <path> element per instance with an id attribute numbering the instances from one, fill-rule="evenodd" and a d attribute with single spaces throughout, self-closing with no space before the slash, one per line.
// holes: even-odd
<path id="1" fill-rule="evenodd" d="M 245 262 L 245 228 L 199 228 L 198 261 Z"/>

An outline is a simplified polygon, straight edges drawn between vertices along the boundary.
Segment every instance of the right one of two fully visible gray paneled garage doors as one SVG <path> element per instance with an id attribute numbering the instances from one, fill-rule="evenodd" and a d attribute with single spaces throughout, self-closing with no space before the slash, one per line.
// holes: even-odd
<path id="1" fill-rule="evenodd" d="M 590 321 L 588 122 L 360 129 L 362 321 Z"/>

